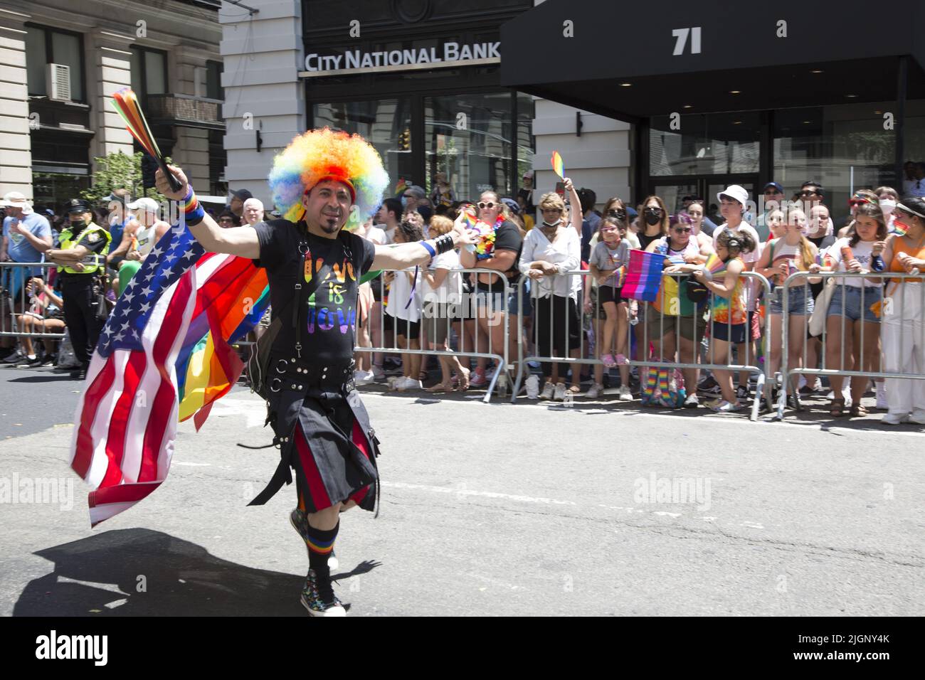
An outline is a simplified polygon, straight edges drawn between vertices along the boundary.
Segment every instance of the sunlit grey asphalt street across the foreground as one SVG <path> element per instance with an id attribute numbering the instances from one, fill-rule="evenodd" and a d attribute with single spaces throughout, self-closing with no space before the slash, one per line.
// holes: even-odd
<path id="1" fill-rule="evenodd" d="M 199 433 L 181 424 L 166 483 L 91 529 L 67 463 L 80 383 L 0 381 L 0 484 L 60 480 L 52 502 L 0 494 L 0 614 L 305 615 L 294 488 L 246 507 L 277 464 L 239 446 L 270 439 L 248 390 Z M 351 615 L 925 611 L 919 427 L 381 389 L 365 402 L 383 497 L 378 518 L 341 519 Z"/>

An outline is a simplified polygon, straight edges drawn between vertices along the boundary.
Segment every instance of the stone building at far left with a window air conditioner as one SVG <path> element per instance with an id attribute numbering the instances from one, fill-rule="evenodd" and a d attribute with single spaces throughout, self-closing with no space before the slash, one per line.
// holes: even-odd
<path id="1" fill-rule="evenodd" d="M 0 193 L 53 209 L 93 158 L 140 150 L 110 104 L 130 86 L 161 152 L 200 191 L 223 177 L 219 3 L 0 0 Z"/>

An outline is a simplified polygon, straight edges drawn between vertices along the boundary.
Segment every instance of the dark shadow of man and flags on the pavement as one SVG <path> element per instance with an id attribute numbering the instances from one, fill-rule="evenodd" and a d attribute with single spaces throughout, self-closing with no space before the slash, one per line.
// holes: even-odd
<path id="1" fill-rule="evenodd" d="M 303 575 L 228 562 L 159 531 L 107 531 L 35 554 L 55 571 L 23 589 L 14 616 L 307 615 L 299 602 Z M 376 566 L 334 575 L 338 597 L 347 594 L 343 579 Z"/>

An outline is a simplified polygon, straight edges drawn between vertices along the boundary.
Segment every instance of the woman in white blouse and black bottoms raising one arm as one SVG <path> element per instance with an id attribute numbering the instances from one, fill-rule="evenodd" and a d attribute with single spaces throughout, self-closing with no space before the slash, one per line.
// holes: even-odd
<path id="1" fill-rule="evenodd" d="M 566 185 L 571 182 L 566 179 Z M 555 192 L 543 194 L 539 201 L 542 221 L 527 232 L 519 267 L 531 279 L 530 296 L 534 305 L 534 341 L 540 356 L 577 356 L 581 347 L 581 320 L 578 316 L 578 291 L 581 277 L 565 272 L 581 266 L 581 208 L 577 196 L 572 199 L 571 224 L 567 223 L 565 203 Z M 575 221 L 578 222 L 577 229 Z M 568 364 L 543 363 L 542 399 L 565 397 Z M 581 392 L 581 372 L 572 372 L 573 394 Z M 531 385 L 533 382 L 533 385 Z M 527 393 L 536 394 L 536 376 L 527 378 Z"/>

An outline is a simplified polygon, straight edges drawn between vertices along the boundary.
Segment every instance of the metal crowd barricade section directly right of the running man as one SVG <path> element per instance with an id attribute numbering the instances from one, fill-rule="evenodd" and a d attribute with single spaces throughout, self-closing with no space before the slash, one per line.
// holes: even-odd
<path id="1" fill-rule="evenodd" d="M 507 318 L 507 316 L 504 317 L 504 323 L 503 323 L 504 333 L 503 333 L 503 341 L 502 341 L 503 346 L 501 348 L 497 347 L 496 343 L 492 339 L 492 333 L 491 333 L 492 327 L 490 326 L 490 324 L 488 326 L 488 333 L 487 333 L 487 336 L 488 336 L 487 347 L 485 346 L 485 343 L 479 342 L 479 332 L 478 332 L 478 319 L 481 315 L 483 314 L 491 315 L 494 312 L 503 312 L 505 315 L 508 314 L 508 300 L 510 299 L 511 294 L 512 294 L 512 287 L 511 287 L 510 282 L 503 275 L 503 273 L 499 272 L 496 269 L 485 269 L 485 268 L 453 269 L 452 270 L 453 273 L 458 273 L 463 277 L 468 276 L 468 275 L 473 275 L 473 279 L 474 279 L 473 291 L 468 292 L 468 293 L 463 292 L 462 295 L 459 297 L 458 301 L 453 300 L 451 298 L 448 299 L 446 301 L 446 304 L 448 306 L 442 307 L 442 309 L 445 312 L 447 312 L 447 315 L 446 316 L 440 315 L 438 317 L 438 320 L 436 321 L 436 323 L 440 323 L 440 324 L 446 323 L 448 344 L 450 344 L 450 340 L 453 334 L 452 326 L 454 324 L 460 325 L 460 332 L 457 335 L 457 339 L 458 339 L 457 347 L 456 349 L 452 349 L 452 345 L 450 344 L 450 350 L 435 350 L 432 348 L 429 348 L 426 350 L 424 349 L 413 350 L 409 348 L 401 348 L 398 346 L 398 335 L 399 335 L 399 329 L 401 328 L 401 325 L 404 324 L 404 328 L 406 329 L 406 331 L 410 327 L 410 324 L 407 320 L 401 319 L 398 316 L 393 317 L 393 328 L 391 331 L 392 332 L 391 346 L 388 346 L 385 342 L 386 332 L 387 332 L 385 328 L 386 314 L 387 314 L 386 313 L 387 291 L 386 291 L 386 282 L 385 282 L 384 275 L 387 271 L 394 271 L 394 270 L 383 270 L 383 276 L 371 282 L 374 285 L 378 284 L 379 291 L 380 291 L 379 301 L 376 301 L 376 302 L 380 304 L 380 311 L 381 311 L 381 314 L 379 315 L 379 333 L 380 333 L 379 337 L 383 340 L 382 346 L 361 347 L 358 344 L 354 348 L 354 351 L 355 352 L 370 352 L 372 354 L 382 352 L 386 354 L 401 354 L 403 356 L 411 356 L 413 354 L 421 354 L 423 356 L 427 356 L 431 354 L 436 355 L 436 356 L 455 355 L 456 357 L 469 357 L 469 358 L 475 358 L 475 359 L 484 358 L 484 359 L 493 360 L 496 364 L 496 369 L 493 372 L 493 375 L 489 380 L 488 387 L 485 393 L 485 397 L 483 398 L 482 401 L 486 403 L 490 402 L 492 394 L 495 392 L 495 389 L 498 389 L 499 394 L 503 396 L 507 390 L 508 371 L 512 370 L 512 365 L 510 363 L 510 356 L 509 356 L 510 352 L 508 350 L 509 345 L 510 345 L 510 328 L 509 328 L 510 321 Z M 412 272 L 413 268 L 408 269 L 408 270 L 398 270 L 398 271 L 395 271 L 395 274 L 400 275 L 403 273 L 403 271 Z M 477 286 L 475 284 L 475 278 L 477 278 L 478 274 L 490 274 L 496 279 L 492 281 L 492 284 L 491 284 L 492 293 L 490 295 L 486 292 L 482 292 L 480 294 L 480 291 L 478 291 Z M 418 270 L 418 280 L 416 283 L 417 291 L 421 291 L 422 289 L 423 276 L 424 276 L 424 268 L 422 267 Z M 394 294 L 394 292 L 390 294 Z M 416 293 L 413 293 L 413 296 L 414 295 L 416 295 Z M 400 304 L 402 307 L 404 307 L 405 304 L 408 302 L 409 301 L 407 300 L 402 300 L 400 301 Z M 419 323 L 421 323 L 420 334 L 418 336 L 419 342 L 420 342 L 420 339 L 424 337 L 424 317 L 425 317 L 425 313 L 427 312 L 426 302 L 427 301 L 423 299 L 421 300 L 422 310 L 421 310 L 421 317 L 419 321 Z M 432 301 L 432 302 L 441 303 L 443 301 Z M 415 304 L 416 302 L 412 300 L 411 303 Z M 518 321 L 519 321 L 519 316 L 518 316 Z M 473 340 L 472 346 L 469 348 L 467 348 L 465 344 L 466 332 L 462 326 L 463 324 L 466 324 L 466 323 L 472 323 L 475 325 L 474 340 Z M 404 335 L 406 338 L 408 337 L 407 332 Z M 372 340 L 372 338 L 370 340 Z M 480 344 L 482 345 L 481 347 L 479 346 Z"/>

